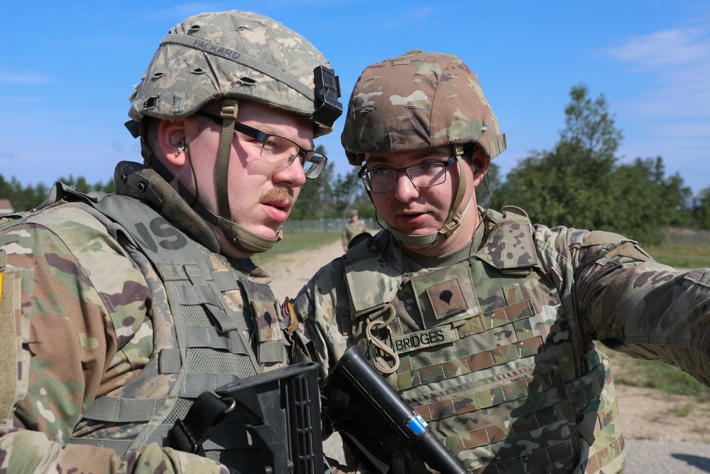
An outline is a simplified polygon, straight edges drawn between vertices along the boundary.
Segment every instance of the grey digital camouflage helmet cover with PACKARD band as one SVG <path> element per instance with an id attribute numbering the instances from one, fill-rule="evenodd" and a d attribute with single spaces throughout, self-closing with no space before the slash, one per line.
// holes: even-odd
<path id="1" fill-rule="evenodd" d="M 129 116 L 136 122 L 145 115 L 173 120 L 214 99 L 244 98 L 310 118 L 320 136 L 332 131 L 342 113 L 337 77 L 329 68 L 303 36 L 271 18 L 244 11 L 199 14 L 163 38 L 131 94 Z M 325 84 L 316 78 L 322 70 Z M 323 102 L 319 90 L 339 111 L 314 114 Z"/>

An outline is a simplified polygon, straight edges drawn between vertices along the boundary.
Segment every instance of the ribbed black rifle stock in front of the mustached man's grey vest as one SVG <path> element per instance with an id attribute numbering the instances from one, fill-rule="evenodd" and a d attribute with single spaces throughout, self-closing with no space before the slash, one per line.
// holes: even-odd
<path id="1" fill-rule="evenodd" d="M 323 474 L 318 365 L 289 365 L 219 387 L 261 424 L 246 429 L 265 453 L 264 474 Z"/>

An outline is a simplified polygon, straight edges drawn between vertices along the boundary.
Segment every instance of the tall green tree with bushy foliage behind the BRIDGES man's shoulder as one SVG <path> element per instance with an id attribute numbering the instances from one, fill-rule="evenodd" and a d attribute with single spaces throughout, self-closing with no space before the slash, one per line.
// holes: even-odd
<path id="1" fill-rule="evenodd" d="M 643 244 L 660 242 L 660 227 L 678 224 L 689 188 L 665 178 L 662 158 L 619 164 L 623 133 L 603 95 L 572 87 L 565 128 L 551 151 L 532 151 L 508 173 L 494 206 L 518 205 L 534 222 L 619 232 Z"/>

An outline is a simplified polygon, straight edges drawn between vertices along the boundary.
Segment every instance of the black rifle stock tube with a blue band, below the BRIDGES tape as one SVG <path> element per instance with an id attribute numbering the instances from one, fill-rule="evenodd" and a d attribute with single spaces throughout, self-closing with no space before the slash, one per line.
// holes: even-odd
<path id="1" fill-rule="evenodd" d="M 349 385 L 349 393 L 343 394 L 344 385 Z M 382 419 L 433 469 L 442 474 L 466 474 L 468 471 L 461 462 L 439 441 L 430 431 L 424 419 L 393 389 L 381 375 L 369 364 L 354 346 L 348 348 L 343 357 L 329 375 L 323 389 L 326 397 L 332 395 L 339 398 L 335 404 L 351 404 L 356 397 L 365 399 L 369 406 L 368 419 Z M 338 392 L 338 393 L 335 393 Z M 359 402 L 359 401 L 356 401 Z M 329 404 L 324 399 L 324 404 Z M 361 404 L 362 405 L 362 404 Z M 367 410 L 367 408 L 365 409 Z M 371 416 L 369 416 L 371 415 Z"/>

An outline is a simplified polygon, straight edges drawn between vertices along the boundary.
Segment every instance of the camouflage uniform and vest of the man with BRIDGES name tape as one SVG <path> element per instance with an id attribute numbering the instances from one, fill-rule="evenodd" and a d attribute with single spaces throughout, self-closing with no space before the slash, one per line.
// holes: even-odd
<path id="1" fill-rule="evenodd" d="M 710 270 L 674 271 L 609 232 L 531 226 L 517 208 L 482 222 L 470 249 L 426 268 L 384 231 L 324 266 L 293 302 L 295 356 L 322 379 L 349 345 L 392 365 L 366 333 L 392 308 L 374 335 L 399 359 L 388 382 L 470 472 L 621 473 L 599 341 L 710 384 Z"/>

